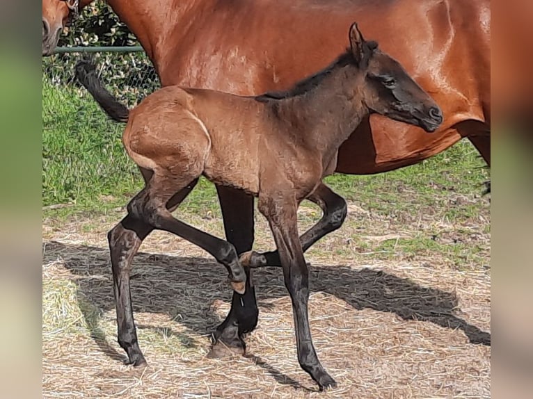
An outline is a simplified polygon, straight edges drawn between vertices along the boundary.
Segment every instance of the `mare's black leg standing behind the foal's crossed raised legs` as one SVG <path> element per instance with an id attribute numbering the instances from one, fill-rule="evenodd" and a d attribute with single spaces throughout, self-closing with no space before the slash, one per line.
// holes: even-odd
<path id="1" fill-rule="evenodd" d="M 221 204 L 226 239 L 235 246 L 237 254 L 250 251 L 253 245 L 253 197 L 225 186 L 216 186 Z M 250 268 L 246 272 L 244 295 L 233 292 L 231 309 L 225 320 L 216 327 L 214 344 L 209 357 L 223 357 L 232 352 L 244 355 L 246 343 L 242 334 L 251 332 L 257 325 L 259 309 L 255 300 L 255 287 Z"/>

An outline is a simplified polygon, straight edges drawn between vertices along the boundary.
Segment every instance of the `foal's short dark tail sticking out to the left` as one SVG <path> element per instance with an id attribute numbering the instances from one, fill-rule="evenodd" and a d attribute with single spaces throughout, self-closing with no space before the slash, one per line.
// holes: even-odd
<path id="1" fill-rule="evenodd" d="M 98 79 L 96 67 L 90 60 L 79 60 L 74 67 L 76 77 L 84 88 L 90 92 L 90 95 L 96 100 L 100 107 L 106 112 L 111 119 L 117 122 L 127 122 L 129 109 L 127 106 L 120 104 L 109 90 L 104 88 L 102 81 Z"/>

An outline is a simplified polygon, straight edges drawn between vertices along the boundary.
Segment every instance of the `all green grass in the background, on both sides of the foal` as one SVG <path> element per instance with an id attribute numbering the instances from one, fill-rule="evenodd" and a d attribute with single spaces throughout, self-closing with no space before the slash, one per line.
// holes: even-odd
<path id="1" fill-rule="evenodd" d="M 122 147 L 125 125 L 109 120 L 84 90 L 57 88 L 46 79 L 42 84 L 42 199 L 45 207 L 66 204 L 45 208 L 45 217 L 104 214 L 125 206 L 142 187 Z M 335 174 L 326 183 L 363 209 L 388 217 L 438 211 L 439 217 L 461 221 L 475 217 L 479 207 L 456 197 L 482 193 L 488 179 L 483 166 L 475 148 L 463 140 L 417 165 L 375 175 Z M 219 217 L 214 186 L 201 179 L 182 211 Z"/>

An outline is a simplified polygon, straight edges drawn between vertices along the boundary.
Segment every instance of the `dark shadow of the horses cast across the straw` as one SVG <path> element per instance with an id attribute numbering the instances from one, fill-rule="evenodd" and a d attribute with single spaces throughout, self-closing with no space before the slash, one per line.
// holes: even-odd
<path id="1" fill-rule="evenodd" d="M 79 307 L 91 336 L 102 352 L 124 361 L 125 354 L 113 348 L 98 327 L 100 314 L 114 310 L 113 280 L 109 250 L 88 245 L 55 241 L 45 243 L 43 263 L 63 259 L 77 286 Z M 232 291 L 225 281 L 225 269 L 214 260 L 138 252 L 131 276 L 134 312 L 168 314 L 180 320 L 188 331 L 211 334 L 222 320 L 210 303 L 230 302 Z M 257 304 L 271 309 L 273 300 L 288 295 L 279 268 L 253 270 L 257 286 Z M 461 329 L 470 343 L 491 345 L 491 334 L 456 316 L 456 295 L 436 288 L 420 286 L 409 279 L 381 270 L 347 266 L 310 267 L 310 291 L 322 291 L 340 298 L 354 309 L 391 312 L 404 320 L 419 320 L 440 327 Z M 186 298 L 186 300 L 184 300 Z M 138 324 L 138 329 L 161 329 Z M 186 334 L 179 336 L 184 345 L 194 346 Z M 299 386 L 290 377 L 276 371 L 258 357 L 255 363 L 284 384 Z"/>

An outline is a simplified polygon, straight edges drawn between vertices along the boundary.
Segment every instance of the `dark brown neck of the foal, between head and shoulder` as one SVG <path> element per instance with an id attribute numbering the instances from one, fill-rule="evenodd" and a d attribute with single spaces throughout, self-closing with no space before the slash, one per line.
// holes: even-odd
<path id="1" fill-rule="evenodd" d="M 279 101 L 293 134 L 333 156 L 358 127 L 369 110 L 363 102 L 364 76 L 355 65 L 333 67 L 310 90 Z"/>

